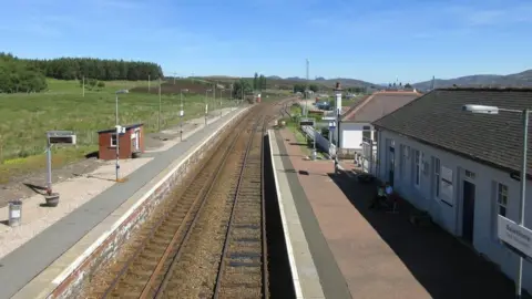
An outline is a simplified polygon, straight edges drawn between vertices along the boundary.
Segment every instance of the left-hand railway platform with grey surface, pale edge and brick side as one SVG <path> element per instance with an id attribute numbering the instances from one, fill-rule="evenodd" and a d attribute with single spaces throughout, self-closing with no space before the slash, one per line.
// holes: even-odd
<path id="1" fill-rule="evenodd" d="M 151 153 L 151 161 L 124 183 L 113 184 L 1 258 L 0 298 L 68 298 L 75 293 L 83 277 L 113 258 L 130 231 L 247 109 L 213 120 L 186 135 L 186 142 Z"/>

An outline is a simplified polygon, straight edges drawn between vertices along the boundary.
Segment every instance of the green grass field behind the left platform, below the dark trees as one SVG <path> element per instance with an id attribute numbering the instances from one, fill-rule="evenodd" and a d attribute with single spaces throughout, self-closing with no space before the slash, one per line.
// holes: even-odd
<path id="1" fill-rule="evenodd" d="M 152 90 L 157 83 L 152 82 Z M 112 128 L 115 123 L 115 91 L 147 86 L 147 82 L 105 82 L 100 91 L 82 89 L 76 81 L 49 80 L 49 91 L 33 94 L 0 94 L 0 183 L 16 173 L 44 165 L 45 132 L 74 131 L 78 145 L 54 150 L 54 163 L 69 163 L 95 151 L 96 131 Z M 226 96 L 229 96 L 228 94 Z M 219 100 L 209 101 L 209 110 Z M 147 132 L 158 130 L 158 95 L 130 92 L 119 94 L 120 124 L 144 123 Z M 162 128 L 178 123 L 180 94 L 162 94 Z M 223 106 L 229 101 L 223 100 Z M 185 94 L 185 118 L 203 114 L 205 95 Z"/>

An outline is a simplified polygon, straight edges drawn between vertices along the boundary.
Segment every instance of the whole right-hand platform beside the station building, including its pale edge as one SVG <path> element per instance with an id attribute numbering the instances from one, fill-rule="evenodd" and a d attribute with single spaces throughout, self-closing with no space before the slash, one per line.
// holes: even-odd
<path id="1" fill-rule="evenodd" d="M 289 130 L 268 132 L 287 251 L 298 298 L 514 298 L 494 266 L 412 208 L 369 209 L 376 187 L 345 163 L 308 161 Z"/>

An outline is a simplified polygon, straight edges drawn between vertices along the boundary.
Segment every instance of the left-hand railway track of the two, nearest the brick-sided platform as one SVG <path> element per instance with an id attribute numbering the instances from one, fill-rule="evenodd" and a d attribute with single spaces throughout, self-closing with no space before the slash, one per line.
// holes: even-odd
<path id="1" fill-rule="evenodd" d="M 252 112 L 247 118 L 253 116 Z M 196 176 L 185 183 L 186 190 L 178 200 L 175 200 L 175 205 L 162 215 L 147 233 L 144 233 L 146 235 L 141 238 L 143 243 L 125 261 L 101 298 L 151 298 L 153 292 L 157 292 L 162 275 L 186 241 L 187 231 L 197 220 L 198 212 L 243 132 L 239 130 L 237 134 L 229 136 L 218 147 L 219 154 L 214 154 Z"/>

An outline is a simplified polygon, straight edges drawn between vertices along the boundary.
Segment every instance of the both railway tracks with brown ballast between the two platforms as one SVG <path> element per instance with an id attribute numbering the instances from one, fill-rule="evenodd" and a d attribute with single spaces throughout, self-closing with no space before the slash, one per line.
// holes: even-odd
<path id="1" fill-rule="evenodd" d="M 247 128 L 229 133 L 93 297 L 268 298 L 263 198 L 268 121 L 259 107 L 249 112 L 238 125 Z"/>

